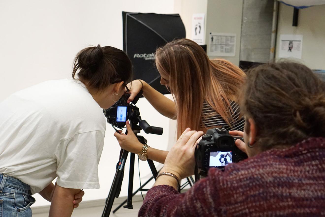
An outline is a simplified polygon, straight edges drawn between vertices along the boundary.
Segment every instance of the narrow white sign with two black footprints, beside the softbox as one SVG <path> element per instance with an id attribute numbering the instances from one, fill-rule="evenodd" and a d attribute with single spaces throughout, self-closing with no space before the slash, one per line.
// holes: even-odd
<path id="1" fill-rule="evenodd" d="M 192 40 L 199 45 L 204 45 L 204 16 L 205 14 L 192 16 Z"/>

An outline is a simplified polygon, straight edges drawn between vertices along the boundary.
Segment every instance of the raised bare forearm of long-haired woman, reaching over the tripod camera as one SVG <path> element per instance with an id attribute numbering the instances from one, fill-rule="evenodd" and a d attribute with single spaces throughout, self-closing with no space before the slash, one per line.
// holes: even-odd
<path id="1" fill-rule="evenodd" d="M 175 102 L 165 97 L 163 94 L 152 88 L 149 84 L 143 83 L 143 96 L 150 102 L 150 104 L 162 115 L 176 119 L 176 105 Z"/>

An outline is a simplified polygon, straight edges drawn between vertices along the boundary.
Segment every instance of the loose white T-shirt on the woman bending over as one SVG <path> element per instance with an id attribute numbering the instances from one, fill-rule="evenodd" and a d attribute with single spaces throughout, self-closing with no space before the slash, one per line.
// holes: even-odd
<path id="1" fill-rule="evenodd" d="M 46 81 L 0 103 L 0 173 L 31 186 L 99 188 L 106 121 L 77 80 Z"/>

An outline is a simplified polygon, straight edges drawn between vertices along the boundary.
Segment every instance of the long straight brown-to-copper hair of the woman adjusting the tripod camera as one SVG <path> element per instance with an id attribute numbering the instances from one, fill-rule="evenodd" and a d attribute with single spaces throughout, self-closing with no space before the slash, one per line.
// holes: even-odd
<path id="1" fill-rule="evenodd" d="M 177 138 L 187 127 L 202 129 L 204 102 L 216 111 L 209 116 L 218 113 L 229 126 L 234 125 L 228 99 L 237 99 L 243 84 L 245 73 L 239 67 L 223 59 L 209 60 L 204 50 L 189 39 L 158 48 L 156 66 L 161 75 L 169 77 L 177 108 Z"/>

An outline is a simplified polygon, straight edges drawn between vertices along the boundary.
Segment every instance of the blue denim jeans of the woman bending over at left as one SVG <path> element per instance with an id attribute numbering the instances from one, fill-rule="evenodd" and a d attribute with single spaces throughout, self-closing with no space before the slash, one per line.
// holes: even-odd
<path id="1" fill-rule="evenodd" d="M 0 173 L 0 217 L 31 217 L 35 202 L 30 186 Z"/>

